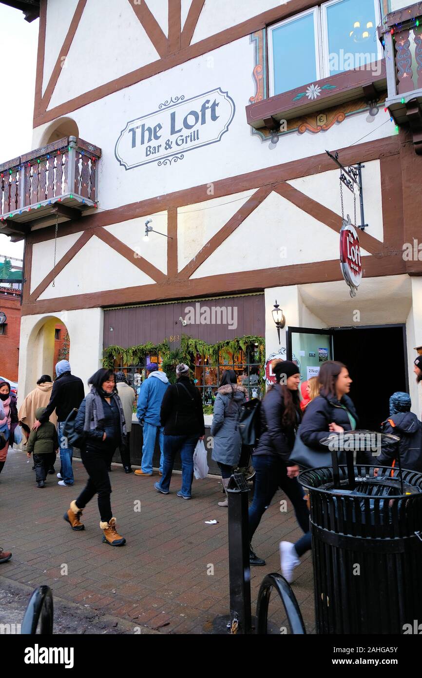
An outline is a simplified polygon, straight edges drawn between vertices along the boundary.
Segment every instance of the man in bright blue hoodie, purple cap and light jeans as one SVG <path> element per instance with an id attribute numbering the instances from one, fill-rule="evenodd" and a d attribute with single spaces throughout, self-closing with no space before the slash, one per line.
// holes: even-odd
<path id="1" fill-rule="evenodd" d="M 157 433 L 159 433 L 161 450 L 160 475 L 163 475 L 164 427 L 161 426 L 160 410 L 164 394 L 169 387 L 169 380 L 165 372 L 159 372 L 159 366 L 156 363 L 147 363 L 146 371 L 148 378 L 141 384 L 136 410 L 138 421 L 141 425 L 144 424 L 142 468 L 135 471 L 135 475 L 152 475 L 152 455 Z"/>

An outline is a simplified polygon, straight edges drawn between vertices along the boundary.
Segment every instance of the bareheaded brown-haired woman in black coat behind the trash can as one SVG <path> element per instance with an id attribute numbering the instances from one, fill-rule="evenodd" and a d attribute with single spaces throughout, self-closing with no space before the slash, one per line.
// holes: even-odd
<path id="1" fill-rule="evenodd" d="M 326 452 L 327 448 L 320 441 L 333 432 L 354 431 L 358 426 L 358 415 L 347 395 L 352 379 L 343 363 L 333 360 L 322 363 L 318 380 L 320 395 L 306 407 L 300 437 L 305 445 Z"/>

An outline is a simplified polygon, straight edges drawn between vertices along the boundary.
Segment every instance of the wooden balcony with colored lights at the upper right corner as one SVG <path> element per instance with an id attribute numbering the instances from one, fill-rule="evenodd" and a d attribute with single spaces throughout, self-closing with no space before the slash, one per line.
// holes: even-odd
<path id="1" fill-rule="evenodd" d="M 422 155 L 422 3 L 387 14 L 378 28 L 385 49 L 387 100 L 397 125 L 410 125 Z"/>

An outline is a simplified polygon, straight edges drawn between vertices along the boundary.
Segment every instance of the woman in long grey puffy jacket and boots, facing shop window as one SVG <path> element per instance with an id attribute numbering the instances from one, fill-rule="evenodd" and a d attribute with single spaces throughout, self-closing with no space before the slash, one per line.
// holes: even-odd
<path id="1" fill-rule="evenodd" d="M 217 462 L 221 471 L 224 489 L 228 486 L 233 469 L 238 465 L 242 451 L 238 420 L 240 407 L 246 402 L 246 396 L 247 388 L 238 386 L 236 372 L 224 370 L 214 402 L 211 425 L 211 435 L 214 438 L 211 458 Z M 218 505 L 228 506 L 227 497 L 218 502 Z"/>

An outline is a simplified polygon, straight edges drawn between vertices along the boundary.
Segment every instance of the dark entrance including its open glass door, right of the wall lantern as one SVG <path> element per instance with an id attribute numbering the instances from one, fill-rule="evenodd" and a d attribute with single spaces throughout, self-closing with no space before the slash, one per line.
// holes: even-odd
<path id="1" fill-rule="evenodd" d="M 404 325 L 326 330 L 289 327 L 287 356 L 300 364 L 302 380 L 318 374 L 324 359 L 347 365 L 353 379 L 350 397 L 360 429 L 379 431 L 381 422 L 389 416 L 390 395 L 408 392 Z"/>

